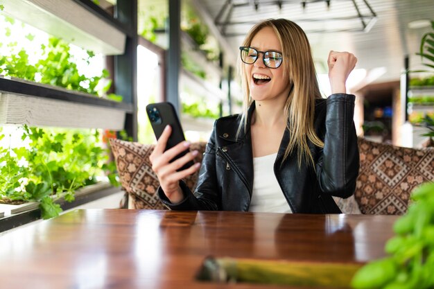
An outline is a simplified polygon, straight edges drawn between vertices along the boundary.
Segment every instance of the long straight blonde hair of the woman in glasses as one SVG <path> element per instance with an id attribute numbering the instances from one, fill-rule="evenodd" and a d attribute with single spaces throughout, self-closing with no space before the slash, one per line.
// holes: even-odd
<path id="1" fill-rule="evenodd" d="M 321 98 L 321 94 L 318 88 L 309 40 L 302 28 L 293 21 L 288 19 L 268 19 L 250 29 L 243 46 L 250 46 L 254 35 L 266 27 L 271 27 L 279 39 L 284 58 L 282 62 L 283 75 L 288 78 L 292 86 L 284 106 L 284 114 L 288 116 L 286 126 L 291 134 L 285 150 L 284 160 L 297 149 L 298 166 L 301 166 L 303 160 L 313 165 L 313 156 L 311 150 L 309 150 L 308 141 L 321 148 L 324 147 L 324 143 L 313 128 L 315 98 Z M 244 125 L 244 130 L 247 131 L 247 111 L 253 100 L 250 98 L 245 65 L 239 60 L 238 69 L 244 91 L 242 121 L 238 128 L 238 132 L 240 132 L 242 125 Z"/>

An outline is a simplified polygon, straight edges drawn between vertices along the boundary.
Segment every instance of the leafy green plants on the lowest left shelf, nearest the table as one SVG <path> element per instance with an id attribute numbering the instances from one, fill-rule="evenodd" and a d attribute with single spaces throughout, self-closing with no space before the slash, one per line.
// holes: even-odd
<path id="1" fill-rule="evenodd" d="M 5 137 L 0 133 L 0 139 Z M 108 162 L 97 130 L 49 130 L 24 125 L 22 145 L 0 148 L 0 200 L 40 202 L 44 218 L 61 211 L 53 201 L 74 200 L 73 192 L 95 184 L 105 171 L 113 185 L 116 166 Z M 25 145 L 25 143 L 27 143 Z"/>

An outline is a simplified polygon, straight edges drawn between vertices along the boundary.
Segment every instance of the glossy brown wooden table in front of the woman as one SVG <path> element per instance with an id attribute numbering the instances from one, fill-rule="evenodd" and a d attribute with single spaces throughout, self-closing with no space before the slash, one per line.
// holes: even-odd
<path id="1" fill-rule="evenodd" d="M 0 288 L 263 288 L 200 282 L 207 256 L 365 262 L 395 216 L 76 210 L 0 237 Z M 267 288 L 282 288 L 270 286 Z"/>

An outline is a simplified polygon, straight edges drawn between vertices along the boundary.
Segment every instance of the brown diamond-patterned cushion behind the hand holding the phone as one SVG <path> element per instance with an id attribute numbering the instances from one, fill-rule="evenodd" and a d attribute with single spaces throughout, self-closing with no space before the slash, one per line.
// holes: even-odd
<path id="1" fill-rule="evenodd" d="M 110 146 L 119 178 L 123 189 L 130 195 L 132 207 L 130 209 L 166 209 L 156 194 L 159 187 L 157 175 L 153 172 L 149 155 L 154 145 L 110 139 Z M 195 161 L 202 161 L 202 152 L 205 152 L 206 143 L 191 143 L 191 150 L 200 153 Z M 198 173 L 186 177 L 184 181 L 191 191 L 196 188 Z"/>

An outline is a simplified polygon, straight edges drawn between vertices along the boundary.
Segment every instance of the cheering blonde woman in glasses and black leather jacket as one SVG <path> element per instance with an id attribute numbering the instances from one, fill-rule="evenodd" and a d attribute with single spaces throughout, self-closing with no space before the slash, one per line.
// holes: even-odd
<path id="1" fill-rule="evenodd" d="M 164 152 L 168 127 L 150 155 L 159 197 L 171 209 L 340 213 L 332 196 L 354 193 L 358 147 L 354 96 L 345 82 L 351 53 L 329 53 L 331 96 L 320 96 L 309 41 L 286 19 L 263 21 L 240 47 L 244 112 L 214 123 L 202 166 L 178 168 L 197 151 Z M 201 167 L 201 168 L 200 168 Z M 194 194 L 182 178 L 200 168 Z"/>

